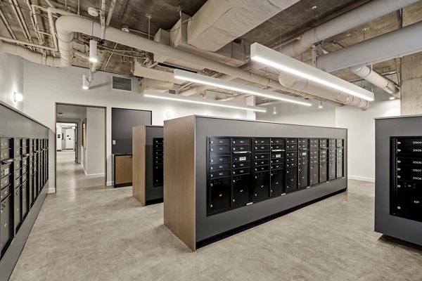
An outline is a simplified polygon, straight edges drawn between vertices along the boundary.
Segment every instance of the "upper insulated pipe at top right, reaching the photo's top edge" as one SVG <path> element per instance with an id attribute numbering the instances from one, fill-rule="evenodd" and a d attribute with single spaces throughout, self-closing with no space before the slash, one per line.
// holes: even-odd
<path id="1" fill-rule="evenodd" d="M 305 32 L 299 41 L 281 48 L 280 52 L 290 57 L 300 55 L 319 41 L 333 37 L 366 22 L 381 18 L 401 8 L 417 3 L 419 0 L 373 0 L 354 8 L 333 20 Z"/>

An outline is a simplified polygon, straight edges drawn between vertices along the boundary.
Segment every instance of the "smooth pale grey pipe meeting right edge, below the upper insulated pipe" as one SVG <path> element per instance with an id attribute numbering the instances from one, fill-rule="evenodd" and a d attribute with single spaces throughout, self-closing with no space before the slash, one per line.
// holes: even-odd
<path id="1" fill-rule="evenodd" d="M 338 51 L 320 55 L 316 67 L 325 72 L 355 65 L 372 65 L 422 51 L 422 21 L 373 37 Z"/>

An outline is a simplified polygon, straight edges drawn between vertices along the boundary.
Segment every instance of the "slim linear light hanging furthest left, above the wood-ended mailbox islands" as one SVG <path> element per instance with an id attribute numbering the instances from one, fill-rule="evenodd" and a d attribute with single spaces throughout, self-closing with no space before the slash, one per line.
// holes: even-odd
<path id="1" fill-rule="evenodd" d="M 159 98 L 162 100 L 173 100 L 184 103 L 196 103 L 199 105 L 211 105 L 218 107 L 234 108 L 236 110 L 250 110 L 257 112 L 267 112 L 265 107 L 250 106 L 250 105 L 238 105 L 236 103 L 225 103 L 217 100 L 207 100 L 205 98 L 196 98 L 188 96 L 179 96 L 172 93 L 156 93 L 154 91 L 143 91 L 143 96 L 146 98 Z"/>

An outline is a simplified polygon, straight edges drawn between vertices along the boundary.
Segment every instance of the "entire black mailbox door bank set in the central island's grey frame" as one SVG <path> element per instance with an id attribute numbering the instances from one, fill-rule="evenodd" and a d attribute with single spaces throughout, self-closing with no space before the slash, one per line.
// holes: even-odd
<path id="1" fill-rule="evenodd" d="M 343 143 L 328 138 L 208 136 L 207 216 L 318 186 L 328 180 L 328 163 L 330 181 L 343 177 Z"/>

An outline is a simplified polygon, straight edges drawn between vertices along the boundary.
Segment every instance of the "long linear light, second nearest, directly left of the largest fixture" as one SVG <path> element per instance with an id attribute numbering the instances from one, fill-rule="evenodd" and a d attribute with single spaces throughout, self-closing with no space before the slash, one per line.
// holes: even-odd
<path id="1" fill-rule="evenodd" d="M 302 101 L 300 98 L 287 98 L 284 97 L 285 95 L 281 93 L 273 93 L 271 91 L 255 88 L 248 85 L 238 84 L 236 82 L 232 81 L 225 81 L 222 79 L 217 79 L 214 77 L 209 77 L 193 72 L 187 72 L 184 70 L 174 70 L 174 78 L 185 80 L 185 81 L 191 81 L 198 84 L 208 85 L 208 86 L 214 86 L 215 88 L 219 89 L 226 89 L 229 91 L 236 91 L 241 93 L 250 93 L 253 96 L 261 96 L 263 98 L 271 98 L 273 100 L 283 100 L 288 103 L 297 103 L 298 105 L 307 105 L 312 106 L 312 103 L 307 103 L 305 101 Z"/>

